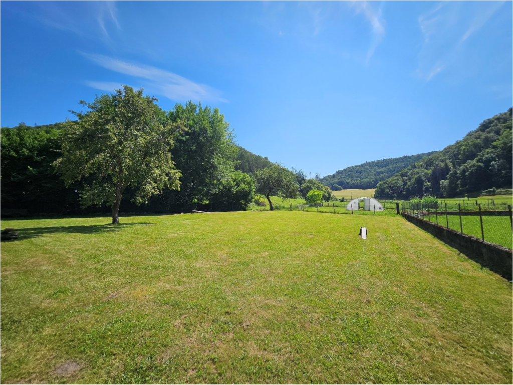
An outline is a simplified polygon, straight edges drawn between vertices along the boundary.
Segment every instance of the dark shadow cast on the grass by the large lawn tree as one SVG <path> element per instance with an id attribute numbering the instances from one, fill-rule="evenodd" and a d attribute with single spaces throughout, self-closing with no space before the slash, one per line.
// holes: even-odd
<path id="1" fill-rule="evenodd" d="M 105 234 L 116 233 L 123 229 L 133 226 L 146 226 L 153 225 L 151 222 L 130 222 L 120 225 L 79 225 L 79 226 L 49 226 L 49 227 L 28 227 L 21 229 L 14 229 L 19 234 L 19 238 L 13 240 L 23 240 L 29 238 L 42 237 L 46 234 Z M 12 241 L 12 240 L 11 240 Z"/>

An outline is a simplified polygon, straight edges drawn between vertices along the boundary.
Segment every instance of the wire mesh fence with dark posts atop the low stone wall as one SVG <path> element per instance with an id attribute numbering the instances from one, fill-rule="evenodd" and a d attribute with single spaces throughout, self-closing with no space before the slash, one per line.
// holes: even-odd
<path id="1" fill-rule="evenodd" d="M 479 203 L 463 207 L 461 203 L 455 205 L 443 201 L 430 204 L 404 201 L 401 211 L 462 234 L 513 249 L 511 205 L 492 205 L 488 209 L 488 206 L 482 207 Z"/>

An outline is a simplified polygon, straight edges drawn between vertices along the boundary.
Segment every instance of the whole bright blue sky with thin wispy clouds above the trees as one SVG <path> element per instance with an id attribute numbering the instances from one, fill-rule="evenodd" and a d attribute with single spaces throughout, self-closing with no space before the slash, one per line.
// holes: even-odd
<path id="1" fill-rule="evenodd" d="M 321 175 L 440 150 L 513 105 L 513 1 L 0 2 L 0 126 L 121 84 L 219 107 Z"/>

